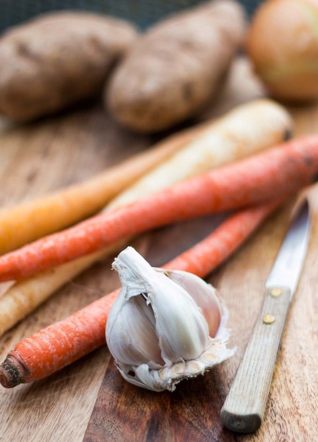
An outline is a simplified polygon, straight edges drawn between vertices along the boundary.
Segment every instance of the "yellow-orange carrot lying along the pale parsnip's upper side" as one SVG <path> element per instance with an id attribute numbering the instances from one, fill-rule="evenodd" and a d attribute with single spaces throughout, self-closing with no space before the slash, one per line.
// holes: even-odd
<path id="1" fill-rule="evenodd" d="M 0 210 L 0 255 L 97 212 L 130 183 L 193 139 L 200 130 L 201 127 L 188 129 L 86 181 Z"/>

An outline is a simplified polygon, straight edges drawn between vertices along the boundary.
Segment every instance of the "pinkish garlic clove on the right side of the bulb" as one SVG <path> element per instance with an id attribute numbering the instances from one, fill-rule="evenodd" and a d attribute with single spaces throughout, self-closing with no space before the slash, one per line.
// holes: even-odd
<path id="1" fill-rule="evenodd" d="M 164 274 L 184 288 L 201 308 L 209 325 L 209 335 L 214 338 L 222 319 L 222 305 L 216 296 L 215 288 L 199 276 L 187 271 L 165 270 Z"/>

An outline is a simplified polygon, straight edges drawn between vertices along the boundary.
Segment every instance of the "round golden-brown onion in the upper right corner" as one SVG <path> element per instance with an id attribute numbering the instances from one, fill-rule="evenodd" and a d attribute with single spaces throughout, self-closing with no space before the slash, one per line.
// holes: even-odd
<path id="1" fill-rule="evenodd" d="M 269 0 L 254 15 L 246 49 L 270 94 L 318 98 L 318 0 Z"/>

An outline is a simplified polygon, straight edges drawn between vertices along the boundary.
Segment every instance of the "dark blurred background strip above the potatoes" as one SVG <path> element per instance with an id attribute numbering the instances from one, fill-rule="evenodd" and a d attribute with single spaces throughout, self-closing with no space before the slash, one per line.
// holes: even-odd
<path id="1" fill-rule="evenodd" d="M 201 3 L 200 0 L 0 0 L 0 31 L 57 9 L 84 9 L 114 15 L 145 29 L 173 11 Z M 250 15 L 261 0 L 242 0 Z"/>

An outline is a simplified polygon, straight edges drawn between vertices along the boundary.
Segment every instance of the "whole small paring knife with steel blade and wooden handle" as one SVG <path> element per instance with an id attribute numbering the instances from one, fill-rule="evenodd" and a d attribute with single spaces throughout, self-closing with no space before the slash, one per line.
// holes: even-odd
<path id="1" fill-rule="evenodd" d="M 251 433 L 261 425 L 291 299 L 310 236 L 307 198 L 294 215 L 266 280 L 263 306 L 221 410 L 225 427 Z"/>

